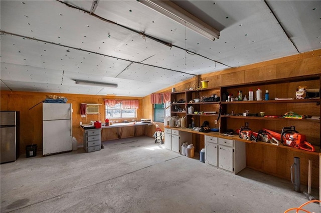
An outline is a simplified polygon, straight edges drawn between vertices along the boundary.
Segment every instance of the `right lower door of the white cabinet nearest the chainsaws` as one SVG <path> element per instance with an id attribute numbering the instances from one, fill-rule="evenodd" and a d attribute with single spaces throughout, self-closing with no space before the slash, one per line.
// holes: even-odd
<path id="1" fill-rule="evenodd" d="M 219 145 L 219 167 L 227 171 L 234 170 L 233 168 L 233 148 L 224 145 Z"/>

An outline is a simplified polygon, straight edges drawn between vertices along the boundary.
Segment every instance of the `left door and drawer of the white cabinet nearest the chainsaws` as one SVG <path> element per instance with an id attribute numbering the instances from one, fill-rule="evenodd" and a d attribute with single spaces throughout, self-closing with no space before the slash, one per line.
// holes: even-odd
<path id="1" fill-rule="evenodd" d="M 205 135 L 205 163 L 217 166 L 218 138 Z"/>

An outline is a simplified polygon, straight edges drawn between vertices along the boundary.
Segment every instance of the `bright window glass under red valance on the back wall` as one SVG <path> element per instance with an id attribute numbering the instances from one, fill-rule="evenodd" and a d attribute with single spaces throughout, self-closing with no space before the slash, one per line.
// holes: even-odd
<path id="1" fill-rule="evenodd" d="M 105 105 L 106 118 L 132 118 L 136 117 L 135 108 L 123 109 L 122 103 L 116 103 L 113 107 Z"/>

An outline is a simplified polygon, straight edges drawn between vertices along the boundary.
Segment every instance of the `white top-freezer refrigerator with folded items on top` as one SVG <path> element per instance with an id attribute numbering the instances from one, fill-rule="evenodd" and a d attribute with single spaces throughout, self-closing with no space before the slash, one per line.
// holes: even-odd
<path id="1" fill-rule="evenodd" d="M 72 104 L 43 103 L 42 154 L 72 151 Z"/>

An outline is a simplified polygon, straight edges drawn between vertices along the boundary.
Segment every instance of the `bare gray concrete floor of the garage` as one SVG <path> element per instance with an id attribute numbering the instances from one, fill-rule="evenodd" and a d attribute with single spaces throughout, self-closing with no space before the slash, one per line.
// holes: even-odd
<path id="1" fill-rule="evenodd" d="M 1 212 L 284 212 L 308 201 L 289 181 L 248 168 L 235 175 L 150 137 L 103 144 L 1 164 Z"/>

